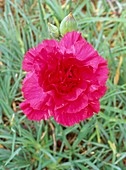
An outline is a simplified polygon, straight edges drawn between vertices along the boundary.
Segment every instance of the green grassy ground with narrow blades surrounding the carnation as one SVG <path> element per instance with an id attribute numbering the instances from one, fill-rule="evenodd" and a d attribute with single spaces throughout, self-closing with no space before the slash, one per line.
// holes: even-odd
<path id="1" fill-rule="evenodd" d="M 73 127 L 29 121 L 19 108 L 24 53 L 48 37 L 47 22 L 59 26 L 70 11 L 108 60 L 101 111 Z M 0 1 L 0 170 L 42 169 L 126 169 L 125 0 Z"/>

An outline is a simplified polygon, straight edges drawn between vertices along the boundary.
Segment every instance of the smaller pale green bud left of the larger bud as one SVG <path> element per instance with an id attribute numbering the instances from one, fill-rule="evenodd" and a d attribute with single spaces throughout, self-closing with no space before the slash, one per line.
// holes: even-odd
<path id="1" fill-rule="evenodd" d="M 59 30 L 55 25 L 48 23 L 48 30 L 52 38 L 59 37 Z"/>

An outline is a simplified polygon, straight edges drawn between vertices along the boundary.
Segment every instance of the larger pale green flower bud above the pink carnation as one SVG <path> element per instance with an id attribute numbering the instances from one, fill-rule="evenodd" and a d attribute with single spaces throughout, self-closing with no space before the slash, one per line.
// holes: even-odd
<path id="1" fill-rule="evenodd" d="M 77 22 L 74 19 L 72 12 L 71 12 L 69 15 L 67 15 L 62 20 L 62 22 L 60 24 L 60 33 L 63 36 L 67 32 L 77 31 L 77 30 L 78 30 Z"/>

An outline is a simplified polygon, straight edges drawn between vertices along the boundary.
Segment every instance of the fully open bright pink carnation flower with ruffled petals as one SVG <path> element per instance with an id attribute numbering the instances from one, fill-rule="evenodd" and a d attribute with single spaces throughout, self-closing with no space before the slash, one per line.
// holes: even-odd
<path id="1" fill-rule="evenodd" d="M 78 32 L 67 33 L 60 42 L 44 40 L 24 57 L 25 101 L 20 107 L 30 120 L 53 116 L 72 126 L 100 110 L 106 92 L 107 62 Z"/>

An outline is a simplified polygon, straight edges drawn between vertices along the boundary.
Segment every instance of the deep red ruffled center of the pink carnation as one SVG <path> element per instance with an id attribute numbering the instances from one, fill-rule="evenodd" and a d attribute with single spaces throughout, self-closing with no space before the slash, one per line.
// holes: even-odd
<path id="1" fill-rule="evenodd" d="M 73 91 L 80 83 L 79 68 L 71 63 L 58 63 L 55 70 L 48 70 L 44 75 L 43 89 L 56 90 L 61 95 Z"/>

